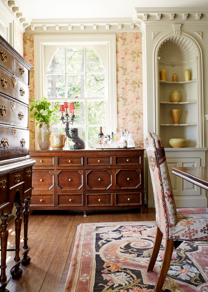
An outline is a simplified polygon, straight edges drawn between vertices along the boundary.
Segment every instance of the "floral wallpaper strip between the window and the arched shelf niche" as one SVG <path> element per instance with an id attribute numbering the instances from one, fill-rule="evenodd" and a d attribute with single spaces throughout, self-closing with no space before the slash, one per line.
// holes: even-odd
<path id="1" fill-rule="evenodd" d="M 118 131 L 132 133 L 135 145 L 143 146 L 142 34 L 116 34 Z"/>

